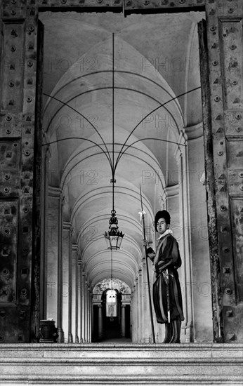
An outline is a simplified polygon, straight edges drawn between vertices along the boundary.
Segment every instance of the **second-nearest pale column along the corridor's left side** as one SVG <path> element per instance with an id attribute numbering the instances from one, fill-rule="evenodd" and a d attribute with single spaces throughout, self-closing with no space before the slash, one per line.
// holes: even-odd
<path id="1" fill-rule="evenodd" d="M 72 342 L 72 224 L 63 222 L 63 331 Z"/>

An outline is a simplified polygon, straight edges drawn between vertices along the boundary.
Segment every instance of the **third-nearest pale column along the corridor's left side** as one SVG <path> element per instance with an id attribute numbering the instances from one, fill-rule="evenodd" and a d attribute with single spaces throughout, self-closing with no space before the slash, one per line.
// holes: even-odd
<path id="1" fill-rule="evenodd" d="M 72 338 L 77 340 L 77 322 L 78 322 L 78 246 L 72 244 Z"/>

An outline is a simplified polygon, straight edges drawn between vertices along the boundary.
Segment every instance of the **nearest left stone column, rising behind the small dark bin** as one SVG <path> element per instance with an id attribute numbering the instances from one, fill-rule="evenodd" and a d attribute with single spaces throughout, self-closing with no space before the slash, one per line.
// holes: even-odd
<path id="1" fill-rule="evenodd" d="M 63 342 L 63 195 L 61 189 L 48 187 L 47 206 L 46 318 L 55 320 L 58 327 L 58 342 Z"/>

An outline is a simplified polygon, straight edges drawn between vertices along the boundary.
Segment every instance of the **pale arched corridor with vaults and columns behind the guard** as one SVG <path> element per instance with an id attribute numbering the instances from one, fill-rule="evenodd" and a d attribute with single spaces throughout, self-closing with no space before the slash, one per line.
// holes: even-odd
<path id="1" fill-rule="evenodd" d="M 41 15 L 48 229 L 42 314 L 56 321 L 60 341 L 91 342 L 96 331 L 93 288 L 110 272 L 103 233 L 112 209 L 111 167 L 114 208 L 125 234 L 113 251 L 112 274 L 131 288 L 133 342 L 152 340 L 140 185 L 148 241 L 155 246 L 154 214 L 166 208 L 180 244 L 183 340 L 212 339 L 196 28 L 202 15 L 146 15 L 146 32 L 140 18 L 87 14 L 80 21 L 70 13 L 60 28 L 62 14 Z M 109 20 L 116 27 L 109 29 Z M 150 265 L 150 286 L 152 280 Z M 162 341 L 163 326 L 155 328 Z"/>

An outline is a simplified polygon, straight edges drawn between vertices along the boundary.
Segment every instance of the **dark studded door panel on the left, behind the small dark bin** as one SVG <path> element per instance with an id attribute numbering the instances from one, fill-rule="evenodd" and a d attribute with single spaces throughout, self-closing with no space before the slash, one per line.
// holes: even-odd
<path id="1" fill-rule="evenodd" d="M 29 342 L 37 8 L 1 1 L 0 342 Z"/>

